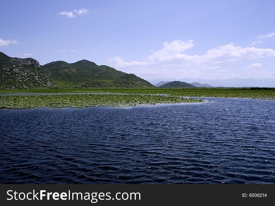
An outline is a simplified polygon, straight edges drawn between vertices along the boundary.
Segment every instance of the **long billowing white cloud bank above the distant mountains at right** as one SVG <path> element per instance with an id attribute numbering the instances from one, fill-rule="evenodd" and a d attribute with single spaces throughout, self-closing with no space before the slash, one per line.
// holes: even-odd
<path id="1" fill-rule="evenodd" d="M 175 40 L 171 44 L 164 42 L 163 46 L 163 49 L 154 51 L 152 55 L 148 56 L 146 61 L 125 62 L 121 57 L 116 56 L 109 58 L 108 62 L 115 67 L 151 65 L 188 66 L 206 62 L 222 63 L 227 61 L 252 60 L 267 56 L 275 56 L 275 50 L 273 49 L 262 49 L 255 47 L 242 48 L 240 46 L 234 46 L 233 43 L 210 49 L 204 55 L 187 55 L 181 53 L 182 51 L 194 46 L 192 40 Z M 219 69 L 219 67 L 216 68 Z M 213 69 L 213 67 L 205 67 L 204 69 Z"/>

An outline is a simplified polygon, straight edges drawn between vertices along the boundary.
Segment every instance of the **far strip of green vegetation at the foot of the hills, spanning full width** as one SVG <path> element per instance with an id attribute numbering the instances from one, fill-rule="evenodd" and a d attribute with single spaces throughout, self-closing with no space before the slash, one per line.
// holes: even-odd
<path id="1" fill-rule="evenodd" d="M 275 100 L 275 89 L 250 88 L 92 88 L 92 89 L 6 89 L 0 93 L 73 93 L 109 92 L 129 94 L 169 94 L 175 97 L 255 98 Z"/>

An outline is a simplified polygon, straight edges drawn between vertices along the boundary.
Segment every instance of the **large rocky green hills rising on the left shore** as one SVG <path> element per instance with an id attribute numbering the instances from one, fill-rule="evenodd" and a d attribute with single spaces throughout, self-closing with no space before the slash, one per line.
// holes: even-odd
<path id="1" fill-rule="evenodd" d="M 134 74 L 88 60 L 53 61 L 41 66 L 32 58 L 12 58 L 0 52 L 1 88 L 155 87 Z"/>

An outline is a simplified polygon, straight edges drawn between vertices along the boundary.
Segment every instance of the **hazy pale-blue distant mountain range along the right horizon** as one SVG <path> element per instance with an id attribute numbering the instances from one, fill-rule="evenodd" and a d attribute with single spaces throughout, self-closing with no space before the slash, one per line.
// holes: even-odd
<path id="1" fill-rule="evenodd" d="M 275 79 L 255 79 L 255 78 L 229 78 L 229 79 L 201 79 L 201 78 L 182 78 L 182 79 L 168 79 L 155 78 L 149 80 L 150 83 L 156 85 L 158 82 L 200 82 L 201 84 L 210 84 L 213 87 L 275 87 Z M 192 83 L 191 83 L 192 84 Z M 194 85 L 195 86 L 195 85 Z"/>

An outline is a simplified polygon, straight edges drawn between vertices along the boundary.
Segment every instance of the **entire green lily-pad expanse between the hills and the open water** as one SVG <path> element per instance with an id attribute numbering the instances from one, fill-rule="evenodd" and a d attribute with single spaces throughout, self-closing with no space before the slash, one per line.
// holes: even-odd
<path id="1" fill-rule="evenodd" d="M 0 96 L 0 108 L 41 108 L 93 106 L 137 106 L 158 103 L 199 103 L 203 99 L 186 97 L 253 98 L 275 100 L 275 90 L 269 88 L 91 88 L 91 89 L 5 89 L 8 93 L 86 93 L 111 94 L 62 94 L 47 96 Z M 125 95 L 120 95 L 120 94 Z M 156 95 L 166 94 L 166 95 Z"/>

